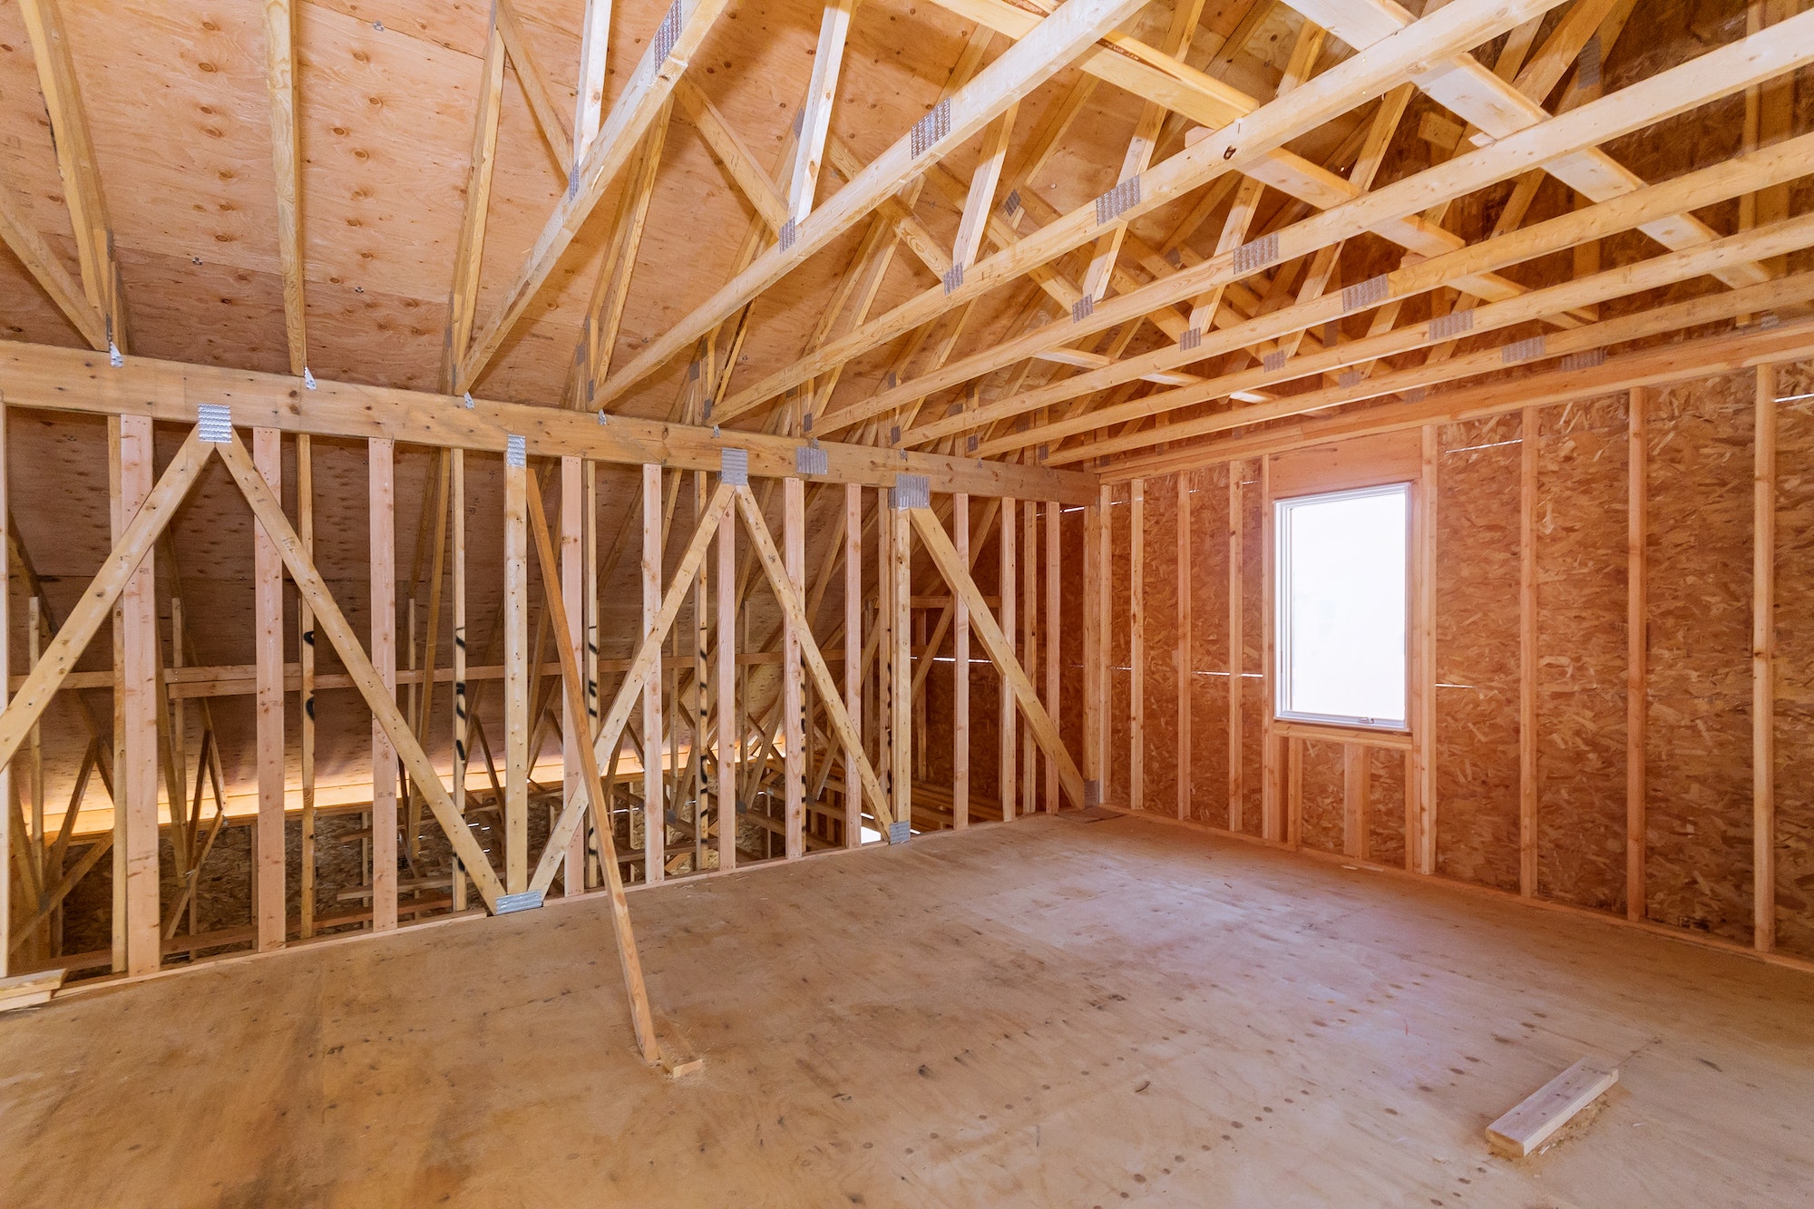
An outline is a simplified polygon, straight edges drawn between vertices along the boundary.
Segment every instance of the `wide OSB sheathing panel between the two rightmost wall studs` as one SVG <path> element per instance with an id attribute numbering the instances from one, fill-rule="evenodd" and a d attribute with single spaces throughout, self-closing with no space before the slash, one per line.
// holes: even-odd
<path id="1" fill-rule="evenodd" d="M 1754 392 L 1732 374 L 1647 403 L 1647 911 L 1732 940 L 1751 939 Z"/>

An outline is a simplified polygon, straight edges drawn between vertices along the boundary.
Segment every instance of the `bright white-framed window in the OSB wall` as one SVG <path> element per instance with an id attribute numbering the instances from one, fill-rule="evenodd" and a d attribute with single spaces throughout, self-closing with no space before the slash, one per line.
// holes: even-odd
<path id="1" fill-rule="evenodd" d="M 1409 485 L 1273 506 L 1279 717 L 1404 730 Z"/>

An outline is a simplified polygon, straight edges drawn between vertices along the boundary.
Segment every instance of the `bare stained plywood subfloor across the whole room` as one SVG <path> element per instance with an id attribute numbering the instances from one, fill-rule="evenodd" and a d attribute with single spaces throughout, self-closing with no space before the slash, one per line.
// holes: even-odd
<path id="1" fill-rule="evenodd" d="M 1036 819 L 0 1018 L 0 1204 L 1787 1205 L 1814 978 L 1156 822 Z M 1551 1151 L 1482 1127 L 1576 1058 Z"/>

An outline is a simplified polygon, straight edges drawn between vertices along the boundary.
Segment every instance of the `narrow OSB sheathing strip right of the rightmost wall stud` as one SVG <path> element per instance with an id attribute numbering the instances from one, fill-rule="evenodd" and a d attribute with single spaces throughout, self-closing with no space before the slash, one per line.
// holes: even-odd
<path id="1" fill-rule="evenodd" d="M 1776 405 L 1776 946 L 1814 957 L 1814 372 Z"/>

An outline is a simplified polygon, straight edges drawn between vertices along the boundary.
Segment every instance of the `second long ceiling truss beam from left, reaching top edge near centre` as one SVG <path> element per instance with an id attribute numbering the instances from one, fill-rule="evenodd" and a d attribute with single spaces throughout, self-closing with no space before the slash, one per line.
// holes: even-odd
<path id="1" fill-rule="evenodd" d="M 717 2 L 717 0 L 707 0 Z M 1464 4 L 1469 0 L 1462 0 Z M 1560 0 L 1529 0 L 1560 2 Z M 626 390 L 660 369 L 669 358 L 780 281 L 809 256 L 824 249 L 856 221 L 874 211 L 907 180 L 929 163 L 967 143 L 1003 109 L 1016 103 L 1061 71 L 1085 47 L 1114 29 L 1143 0 L 1067 0 L 1039 27 L 983 69 L 972 82 L 940 102 L 914 129 L 876 156 L 856 180 L 833 194 L 791 238 L 758 256 L 724 289 L 689 316 L 653 339 L 629 365 L 600 388 L 600 403 L 610 405 Z"/>

